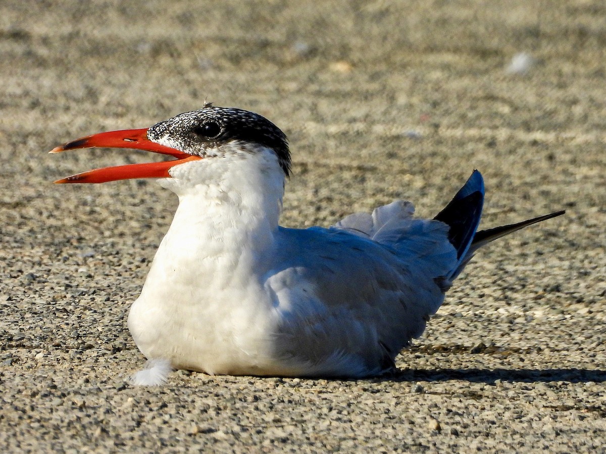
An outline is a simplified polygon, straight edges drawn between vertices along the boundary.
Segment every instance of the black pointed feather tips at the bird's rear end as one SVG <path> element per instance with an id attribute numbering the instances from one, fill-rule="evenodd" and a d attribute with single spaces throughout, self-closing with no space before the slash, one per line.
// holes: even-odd
<path id="1" fill-rule="evenodd" d="M 529 225 L 565 213 L 565 211 L 556 211 L 515 224 L 478 231 L 482 205 L 484 205 L 484 180 L 479 171 L 474 170 L 465 185 L 434 218 L 450 227 L 448 240 L 457 251 L 458 262 L 447 277 L 449 281 L 454 280 L 461 273 L 473 254 L 482 246 Z"/>

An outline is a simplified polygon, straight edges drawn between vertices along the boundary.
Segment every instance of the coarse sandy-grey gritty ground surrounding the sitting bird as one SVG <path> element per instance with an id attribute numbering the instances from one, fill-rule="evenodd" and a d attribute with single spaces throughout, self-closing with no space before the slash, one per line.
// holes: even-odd
<path id="1" fill-rule="evenodd" d="M 606 452 L 606 4 L 487 4 L 2 0 L 2 451 Z M 395 377 L 132 387 L 126 316 L 176 197 L 53 185 L 150 157 L 47 151 L 204 99 L 290 137 L 283 225 L 433 215 L 474 168 L 484 227 L 567 214 L 479 254 Z"/>

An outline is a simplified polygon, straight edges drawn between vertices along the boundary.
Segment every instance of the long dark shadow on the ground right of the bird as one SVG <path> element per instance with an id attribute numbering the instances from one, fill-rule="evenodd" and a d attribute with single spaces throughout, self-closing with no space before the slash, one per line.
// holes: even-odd
<path id="1" fill-rule="evenodd" d="M 398 369 L 373 381 L 448 381 L 494 384 L 497 380 L 522 383 L 606 382 L 606 370 L 600 369 Z"/>

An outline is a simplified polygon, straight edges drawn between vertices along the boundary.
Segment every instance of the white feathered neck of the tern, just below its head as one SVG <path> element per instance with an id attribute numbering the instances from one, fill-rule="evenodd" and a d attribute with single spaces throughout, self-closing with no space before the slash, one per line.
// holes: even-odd
<path id="1" fill-rule="evenodd" d="M 273 152 L 236 160 L 210 159 L 213 162 L 208 165 L 181 169 L 190 171 L 198 184 L 176 183 L 177 179 L 162 183 L 179 196 L 179 207 L 164 242 L 174 246 L 169 246 L 173 254 L 179 249 L 176 254 L 185 261 L 208 258 L 210 263 L 218 260 L 255 266 L 255 257 L 274 247 L 284 173 Z"/>

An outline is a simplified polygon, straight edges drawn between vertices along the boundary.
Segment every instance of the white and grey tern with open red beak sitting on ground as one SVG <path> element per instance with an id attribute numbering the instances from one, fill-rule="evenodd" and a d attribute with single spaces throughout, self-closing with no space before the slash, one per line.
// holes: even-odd
<path id="1" fill-rule="evenodd" d="M 148 369 L 284 377 L 369 377 L 395 369 L 476 249 L 563 214 L 477 231 L 478 171 L 434 219 L 397 200 L 330 228 L 278 225 L 286 136 L 245 110 L 205 105 L 141 130 L 95 134 L 51 153 L 135 148 L 176 158 L 58 180 L 159 178 L 179 206 L 151 263 L 128 329 Z"/>

